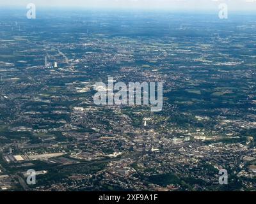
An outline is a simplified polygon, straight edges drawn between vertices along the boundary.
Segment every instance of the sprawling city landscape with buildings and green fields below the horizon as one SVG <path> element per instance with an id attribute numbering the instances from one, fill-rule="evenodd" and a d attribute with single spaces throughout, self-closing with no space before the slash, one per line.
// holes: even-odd
<path id="1" fill-rule="evenodd" d="M 255 14 L 23 7 L 0 8 L 0 191 L 256 191 Z"/>

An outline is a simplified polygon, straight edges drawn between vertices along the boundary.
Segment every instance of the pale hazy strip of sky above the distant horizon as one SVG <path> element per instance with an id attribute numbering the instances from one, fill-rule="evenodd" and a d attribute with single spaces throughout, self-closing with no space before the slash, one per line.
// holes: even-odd
<path id="1" fill-rule="evenodd" d="M 256 0 L 0 0 L 0 6 L 74 8 L 132 8 L 165 10 L 218 10 L 227 3 L 229 10 L 255 10 Z"/>

